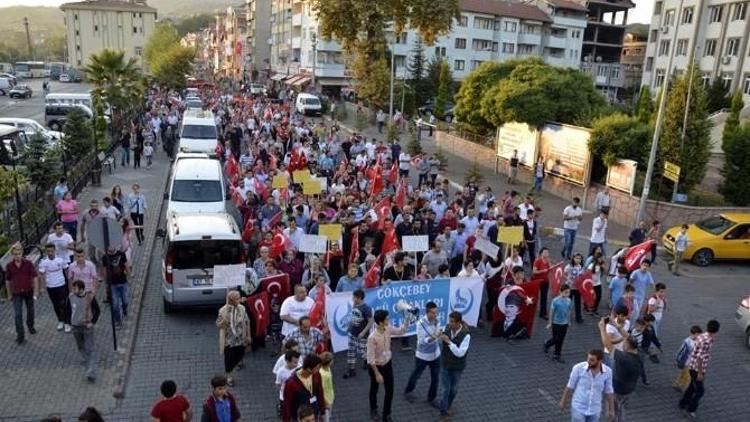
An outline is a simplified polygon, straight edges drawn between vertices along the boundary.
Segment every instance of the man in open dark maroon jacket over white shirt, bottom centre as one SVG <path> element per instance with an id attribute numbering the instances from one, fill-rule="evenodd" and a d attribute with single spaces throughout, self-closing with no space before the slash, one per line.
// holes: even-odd
<path id="1" fill-rule="evenodd" d="M 307 355 L 302 368 L 296 370 L 284 383 L 284 400 L 281 407 L 283 422 L 296 422 L 297 411 L 302 405 L 310 405 L 313 413 L 322 415 L 326 408 L 323 396 L 323 381 L 320 378 L 322 361 L 318 355 Z"/>

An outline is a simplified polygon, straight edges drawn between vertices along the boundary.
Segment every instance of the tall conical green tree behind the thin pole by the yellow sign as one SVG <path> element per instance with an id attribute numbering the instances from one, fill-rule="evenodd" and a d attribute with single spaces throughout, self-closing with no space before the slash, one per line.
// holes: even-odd
<path id="1" fill-rule="evenodd" d="M 690 71 L 675 79 L 667 93 L 667 104 L 664 110 L 664 125 L 659 139 L 659 153 L 655 169 L 661 173 L 664 161 L 681 167 L 680 187 L 689 192 L 693 186 L 703 181 L 706 165 L 711 154 L 711 121 L 708 120 L 708 98 L 697 72 Z M 688 87 L 692 84 L 690 107 L 688 109 L 687 127 L 684 143 L 682 124 L 685 115 L 685 103 Z"/>

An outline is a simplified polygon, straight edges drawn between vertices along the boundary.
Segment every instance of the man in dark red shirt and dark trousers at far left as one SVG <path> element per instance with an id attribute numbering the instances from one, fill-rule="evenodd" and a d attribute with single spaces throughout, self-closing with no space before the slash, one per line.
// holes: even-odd
<path id="1" fill-rule="evenodd" d="M 23 256 L 23 247 L 11 248 L 13 260 L 5 266 L 5 288 L 13 302 L 16 318 L 16 343 L 26 342 L 23 330 L 23 306 L 26 305 L 26 326 L 29 333 L 36 334 L 34 329 L 34 300 L 39 297 L 39 276 L 34 264 Z"/>

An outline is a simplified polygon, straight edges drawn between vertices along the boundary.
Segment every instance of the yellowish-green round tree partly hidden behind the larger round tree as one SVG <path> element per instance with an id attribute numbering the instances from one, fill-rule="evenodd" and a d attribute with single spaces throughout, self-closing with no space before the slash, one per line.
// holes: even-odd
<path id="1" fill-rule="evenodd" d="M 540 59 L 535 60 L 542 63 Z M 501 80 L 507 78 L 521 60 L 508 60 L 501 63 L 484 62 L 478 68 L 469 73 L 461 84 L 455 96 L 453 113 L 456 120 L 465 125 L 472 132 L 486 134 L 492 133 L 497 126 L 490 123 L 477 102 L 491 87 L 496 86 Z M 435 78 L 437 80 L 437 78 Z"/>

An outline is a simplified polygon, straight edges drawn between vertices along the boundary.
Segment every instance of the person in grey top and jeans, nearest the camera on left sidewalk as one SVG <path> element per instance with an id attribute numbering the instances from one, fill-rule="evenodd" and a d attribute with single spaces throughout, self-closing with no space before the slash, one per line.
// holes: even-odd
<path id="1" fill-rule="evenodd" d="M 70 302 L 70 325 L 76 347 L 86 364 L 86 380 L 96 381 L 96 356 L 94 352 L 94 323 L 99 318 L 98 307 L 94 309 L 94 294 L 86 291 L 81 280 L 73 281 L 73 292 L 68 296 Z"/>

